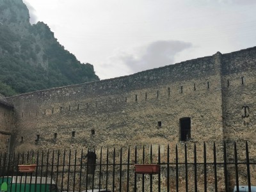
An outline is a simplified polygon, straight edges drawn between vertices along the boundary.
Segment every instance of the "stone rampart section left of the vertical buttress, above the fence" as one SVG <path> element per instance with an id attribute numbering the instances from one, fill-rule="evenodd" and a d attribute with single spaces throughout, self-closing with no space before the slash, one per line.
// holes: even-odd
<path id="1" fill-rule="evenodd" d="M 191 141 L 222 141 L 216 58 L 11 97 L 15 148 L 174 144 L 183 117 L 191 118 Z"/>

